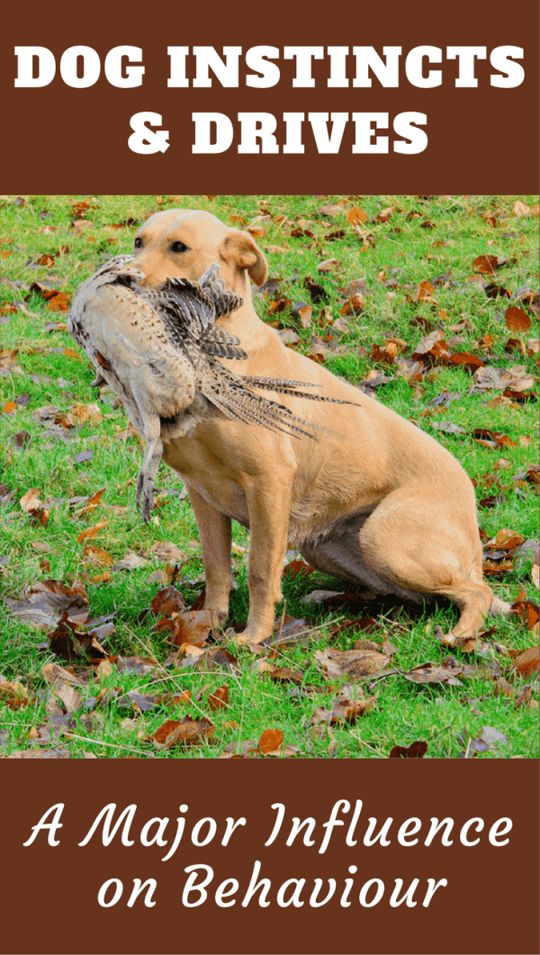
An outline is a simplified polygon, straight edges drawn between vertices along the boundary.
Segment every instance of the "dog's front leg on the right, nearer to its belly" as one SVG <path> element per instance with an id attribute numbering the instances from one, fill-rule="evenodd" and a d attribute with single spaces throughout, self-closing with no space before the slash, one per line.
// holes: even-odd
<path id="1" fill-rule="evenodd" d="M 244 480 L 249 512 L 249 615 L 241 644 L 259 644 L 270 635 L 281 600 L 281 573 L 287 549 L 292 479 L 273 472 Z"/>

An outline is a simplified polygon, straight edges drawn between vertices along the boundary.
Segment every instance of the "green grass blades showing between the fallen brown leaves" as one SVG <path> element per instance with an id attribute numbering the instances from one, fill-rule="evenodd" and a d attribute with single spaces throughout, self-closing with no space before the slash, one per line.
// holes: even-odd
<path id="1" fill-rule="evenodd" d="M 372 369 L 385 371 L 391 380 L 378 388 L 377 397 L 405 417 L 413 418 L 429 434 L 436 435 L 459 458 L 469 476 L 477 481 L 479 501 L 500 493 L 496 487 L 489 488 L 483 476 L 492 475 L 495 461 L 504 458 L 507 463 L 498 474 L 503 487 L 509 487 L 495 506 L 479 508 L 481 527 L 489 538 L 502 528 L 509 528 L 525 539 L 538 536 L 535 486 L 523 481 L 515 486 L 510 481 L 510 477 L 523 471 L 524 466 L 537 457 L 537 401 L 509 400 L 492 407 L 488 402 L 500 391 L 473 393 L 470 373 L 463 367 L 436 367 L 421 383 L 411 387 L 405 377 L 396 375 L 395 365 L 375 362 L 371 351 L 373 343 L 383 347 L 385 340 L 401 338 L 411 346 L 405 352 L 410 354 L 426 334 L 418 325 L 409 324 L 420 319 L 433 323 L 434 328 L 444 329 L 446 338 L 458 334 L 456 350 L 482 354 L 483 348 L 487 350 L 482 340 L 491 335 L 489 365 L 499 368 L 522 365 L 535 372 L 537 352 L 530 349 L 528 353 L 528 339 L 537 336 L 533 313 L 530 312 L 530 331 L 521 336 L 526 353 L 507 352 L 508 339 L 520 337 L 505 326 L 505 311 L 512 300 L 489 298 L 484 287 L 470 281 L 470 276 L 472 262 L 478 256 L 502 256 L 508 263 L 497 268 L 495 277 L 488 281 L 509 288 L 514 298 L 522 286 L 537 289 L 537 213 L 536 216 L 514 214 L 516 199 L 530 206 L 537 200 L 527 196 L 363 196 L 350 197 L 344 211 L 335 212 L 331 217 L 318 214 L 323 204 L 336 204 L 342 198 L 2 198 L 0 253 L 3 275 L 9 281 L 0 283 L 0 320 L 3 322 L 0 347 L 18 350 L 16 357 L 5 359 L 5 368 L 0 368 L 4 372 L 0 377 L 0 409 L 5 409 L 0 414 L 0 466 L 4 475 L 1 481 L 16 491 L 0 509 L 2 595 L 20 599 L 38 580 L 55 579 L 68 585 L 82 582 L 87 588 L 93 618 L 115 613 L 115 631 L 109 638 L 108 652 L 156 662 L 153 672 L 143 674 L 120 671 L 116 665 L 96 677 L 92 668 L 81 670 L 84 683 L 78 689 L 85 701 L 84 707 L 73 714 L 73 723 L 68 728 L 70 734 L 65 733 L 58 740 L 58 745 L 67 748 L 73 756 L 93 753 L 99 757 L 214 757 L 222 753 L 227 744 L 243 740 L 257 742 L 261 732 L 277 728 L 284 733 L 285 743 L 299 747 L 305 756 L 385 757 L 396 744 L 408 746 L 415 740 L 426 740 L 428 756 L 447 757 L 466 748 L 460 733 L 466 734 L 467 742 L 467 735 L 477 736 L 484 726 L 503 732 L 508 744 L 488 750 L 482 758 L 538 754 L 534 685 L 530 704 L 515 707 L 520 691 L 530 685 L 530 676 L 512 677 L 507 694 L 501 690 L 500 682 L 488 678 L 481 666 L 485 661 L 459 649 L 453 651 L 458 660 L 479 665 L 478 673 L 464 678 L 461 687 L 446 683 L 417 685 L 401 675 L 427 661 L 440 664 L 447 657 L 448 650 L 437 642 L 433 631 L 439 625 L 447 632 L 457 612 L 443 601 L 426 608 L 424 613 L 414 614 L 407 607 L 369 602 L 362 614 L 351 612 L 346 605 L 333 612 L 321 607 L 310 608 L 309 617 L 319 628 L 306 641 L 285 647 L 272 659 L 275 665 L 301 674 L 300 692 L 296 685 L 263 677 L 250 651 L 237 650 L 226 636 L 222 637 L 224 646 L 239 659 L 236 674 L 161 666 L 170 647 L 167 639 L 152 629 L 155 618 L 143 611 L 162 585 L 149 578 L 163 568 L 164 562 L 152 559 L 149 549 L 157 541 L 174 541 L 186 552 L 187 560 L 180 567 L 177 587 L 188 604 L 195 600 L 203 584 L 203 567 L 193 513 L 188 502 L 177 494 L 181 487 L 179 478 L 162 466 L 158 477 L 161 506 L 149 525 L 142 522 L 135 510 L 141 441 L 136 435 L 126 435 L 129 422 L 123 409 L 114 403 L 114 396 L 104 395 L 109 403 L 98 401 L 96 392 L 90 388 L 93 370 L 67 331 L 47 330 L 51 323 L 65 323 L 67 312 L 52 311 L 38 290 L 31 290 L 32 283 L 47 282 L 71 297 L 76 286 L 101 262 L 111 255 L 131 251 L 137 225 L 159 208 L 203 208 L 215 213 L 224 223 L 235 225 L 242 223 L 239 219 L 231 220 L 231 216 L 251 223 L 269 210 L 273 218 L 262 221 L 265 235 L 258 242 L 263 248 L 288 246 L 283 252 L 267 252 L 270 275 L 280 278 L 280 294 L 293 306 L 301 300 L 312 305 L 313 324 L 309 329 L 301 328 L 291 304 L 277 310 L 272 297 L 258 296 L 255 301 L 263 319 L 279 322 L 281 329 L 293 329 L 299 334 L 297 348 L 306 353 L 314 348 L 315 334 L 324 336 L 331 332 L 332 325 L 326 319 L 338 318 L 343 308 L 343 287 L 352 279 L 364 278 L 368 287 L 365 308 L 352 316 L 348 330 L 339 338 L 340 350 L 328 353 L 327 367 L 354 384 L 363 381 Z M 73 209 L 73 202 L 85 199 L 90 200 L 86 209 Z M 351 206 L 361 207 L 367 215 L 363 229 L 369 230 L 374 239 L 367 238 L 365 244 L 346 222 L 345 211 Z M 392 216 L 387 222 L 372 222 L 389 207 Z M 419 216 L 410 215 L 414 212 Z M 77 219 L 77 214 L 82 218 Z M 314 232 L 315 239 L 305 234 L 290 235 L 291 224 L 297 224 L 295 217 L 311 223 L 306 228 Z M 433 224 L 432 228 L 423 227 L 427 219 Z M 78 223 L 76 227 L 73 222 Z M 331 232 L 343 232 L 343 237 L 325 238 Z M 55 253 L 65 246 L 68 250 L 56 257 Z M 36 259 L 41 256 L 50 256 L 52 264 L 37 264 Z M 319 273 L 318 265 L 331 258 L 338 260 L 337 268 Z M 393 269 L 399 271 L 392 272 Z M 420 282 L 448 270 L 451 281 L 435 287 L 432 298 L 436 304 L 415 298 Z M 385 285 L 393 275 L 397 286 Z M 303 285 L 306 276 L 312 276 L 323 286 L 325 302 L 311 303 Z M 520 306 L 527 309 L 523 302 Z M 463 327 L 448 330 L 448 326 L 459 325 L 464 319 L 467 321 Z M 335 335 L 334 344 L 336 341 Z M 459 397 L 447 407 L 432 407 L 429 402 L 445 389 L 459 393 Z M 28 402 L 25 404 L 25 398 L 22 404 L 15 403 L 14 408 L 11 407 L 10 402 L 21 395 L 28 395 Z M 47 423 L 35 415 L 36 409 L 47 405 L 57 406 L 61 409 L 58 414 L 65 414 L 77 403 L 97 403 L 101 419 L 77 423 L 62 436 L 51 431 Z M 467 434 L 454 436 L 434 429 L 432 425 L 440 421 L 459 425 Z M 470 435 L 475 428 L 503 433 L 514 443 L 486 447 Z M 30 443 L 17 448 L 13 436 L 21 432 L 30 435 Z M 121 435 L 120 438 L 117 435 Z M 74 456 L 85 451 L 92 451 L 92 458 L 75 463 Z M 20 498 L 31 488 L 39 490 L 40 499 L 50 510 L 45 525 L 32 520 L 19 505 Z M 106 490 L 93 515 L 77 517 L 76 506 L 70 505 L 69 500 L 87 498 L 101 488 Z M 123 510 L 116 513 L 114 507 Z M 89 524 L 101 520 L 107 524 L 95 540 L 77 542 L 78 535 Z M 246 560 L 242 554 L 247 536 L 237 525 L 234 540 L 238 589 L 231 602 L 230 622 L 241 624 L 246 619 L 248 601 Z M 89 562 L 83 554 L 85 543 L 105 550 L 114 562 L 120 561 L 128 551 L 146 555 L 147 562 L 131 571 L 113 570 L 109 564 Z M 523 590 L 531 601 L 537 601 L 537 591 L 530 581 L 530 567 L 531 561 L 527 558 L 516 558 L 506 574 L 491 577 L 489 584 L 498 596 L 510 602 Z M 346 584 L 319 573 L 285 580 L 284 605 L 278 607 L 278 616 L 285 610 L 292 617 L 305 617 L 306 605 L 301 599 L 316 588 L 348 589 Z M 43 630 L 13 618 L 5 605 L 0 606 L 0 614 L 0 679 L 19 680 L 29 694 L 28 705 L 19 709 L 10 709 L 9 694 L 0 695 L 0 753 L 8 754 L 33 745 L 35 728 L 48 722 L 46 706 L 50 694 L 42 668 L 52 661 L 59 664 L 65 661 L 43 648 L 43 644 L 47 644 Z M 339 618 L 361 615 L 375 618 L 377 626 L 373 632 L 336 626 Z M 336 692 L 336 686 L 324 679 L 317 668 L 315 651 L 326 646 L 348 649 L 354 646 L 355 639 L 363 637 L 381 644 L 385 636 L 397 647 L 388 670 L 401 672 L 364 687 L 366 692 L 377 694 L 375 708 L 352 725 L 314 726 L 314 712 L 319 707 L 331 706 Z M 526 623 L 516 615 L 507 620 L 499 619 L 492 639 L 504 644 L 514 655 L 538 642 L 537 633 L 528 630 Z M 511 663 L 509 656 L 498 657 L 501 672 L 507 678 Z M 229 705 L 211 711 L 208 694 L 223 684 L 229 687 Z M 93 698 L 103 688 L 109 688 L 110 692 L 105 703 L 94 710 Z M 133 706 L 121 705 L 119 701 L 126 692 L 135 689 L 156 695 L 179 694 L 189 689 L 195 702 L 189 705 L 157 703 L 150 710 L 134 711 Z M 94 713 L 92 725 L 88 723 L 89 712 Z M 210 740 L 203 739 L 197 746 L 156 749 L 150 739 L 152 733 L 165 720 L 179 719 L 187 713 L 194 719 L 201 714 L 212 719 L 216 731 Z"/>

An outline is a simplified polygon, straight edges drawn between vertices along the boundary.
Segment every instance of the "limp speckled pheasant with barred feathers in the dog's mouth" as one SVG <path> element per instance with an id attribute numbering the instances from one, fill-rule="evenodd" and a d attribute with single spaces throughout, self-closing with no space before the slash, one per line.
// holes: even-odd
<path id="1" fill-rule="evenodd" d="M 97 371 L 93 386 L 110 385 L 144 435 L 147 452 L 136 503 L 148 521 L 163 439 L 188 435 L 215 414 L 297 437 L 314 437 L 312 432 L 320 430 L 255 389 L 348 402 L 302 391 L 316 387 L 309 382 L 237 374 L 218 360 L 247 354 L 239 338 L 217 324 L 243 305 L 242 297 L 218 278 L 217 263 L 198 283 L 168 279 L 156 290 L 140 284 L 144 274 L 133 259 L 114 257 L 78 287 L 68 329 Z"/>

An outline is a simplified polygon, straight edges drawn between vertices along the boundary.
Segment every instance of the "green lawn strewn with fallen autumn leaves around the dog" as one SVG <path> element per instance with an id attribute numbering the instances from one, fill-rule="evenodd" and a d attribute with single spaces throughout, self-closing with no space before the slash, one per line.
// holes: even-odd
<path id="1" fill-rule="evenodd" d="M 105 627 L 96 633 L 102 653 L 91 647 L 84 623 L 73 630 L 64 622 L 51 641 L 55 627 L 48 634 L 2 601 L 0 754 L 55 746 L 73 756 L 215 757 L 249 751 L 241 745 L 248 740 L 257 750 L 261 734 L 273 729 L 280 732 L 264 737 L 262 752 L 386 757 L 396 745 L 426 741 L 427 757 L 466 750 L 480 758 L 537 756 L 537 669 L 520 657 L 538 645 L 533 550 L 520 551 L 522 541 L 538 538 L 538 472 L 530 467 L 538 456 L 538 393 L 524 377 L 536 378 L 538 366 L 537 202 L 533 196 L 0 198 L 2 598 L 26 599 L 38 582 L 54 580 L 79 588 L 79 604 L 84 610 L 88 602 L 92 621 L 114 614 L 98 621 Z M 110 256 L 130 252 L 145 218 L 176 206 L 251 226 L 270 277 L 279 280 L 255 297 L 260 316 L 353 384 L 379 381 L 372 393 L 436 435 L 476 481 L 484 540 L 512 532 L 491 547 L 491 558 L 487 551 L 488 583 L 510 603 L 519 597 L 521 613 L 493 620 L 476 652 L 438 642 L 435 627 L 447 632 L 457 619 L 442 600 L 424 613 L 360 596 L 302 603 L 316 589 L 349 590 L 317 572 L 284 582 L 278 620 L 283 614 L 303 620 L 296 627 L 300 640 L 254 656 L 235 646 L 229 629 L 212 635 L 197 657 L 171 647 L 175 623 L 170 613 L 156 617 L 150 605 L 173 576 L 185 604 L 197 600 L 204 576 L 196 522 L 178 477 L 164 465 L 155 516 L 148 525 L 141 520 L 135 481 L 143 442 L 114 394 L 90 388 L 93 369 L 65 323 L 76 286 Z M 473 265 L 482 256 L 494 258 Z M 335 262 L 319 271 L 327 260 Z M 345 288 L 353 280 L 363 281 L 351 305 Z M 496 380 L 495 388 L 481 389 L 478 374 L 472 376 L 474 358 L 455 364 L 432 343 L 419 348 L 437 331 L 447 355 L 467 352 L 488 369 L 519 366 L 509 393 Z M 423 348 L 425 360 L 414 373 L 411 356 Z M 36 492 L 25 498 L 31 489 Z M 78 541 L 90 527 L 95 536 Z M 512 536 L 518 542 L 506 554 Z M 166 560 L 151 550 L 159 541 L 173 542 L 182 555 Z M 226 627 L 237 629 L 247 613 L 247 542 L 235 525 L 238 589 Z M 128 553 L 138 565 L 116 567 Z M 340 707 L 347 680 L 325 676 L 316 654 L 365 640 L 371 643 L 364 650 L 388 650 L 389 641 L 391 660 L 344 690 L 352 702 Z M 227 667 L 218 647 L 237 663 Z M 405 678 L 429 662 L 448 666 L 450 654 L 457 661 L 454 682 Z M 60 672 L 54 683 L 52 669 L 43 671 L 48 664 L 70 668 L 72 682 Z M 224 686 L 227 692 L 212 697 Z M 134 690 L 142 695 L 127 696 Z M 191 700 L 182 698 L 186 690 Z M 369 701 L 356 721 L 351 712 L 363 704 L 355 696 Z M 153 738 L 165 721 L 188 715 L 191 723 L 180 723 L 174 745 L 159 745 L 165 731 Z M 485 733 L 487 749 L 471 742 L 484 727 L 505 738 L 493 742 Z M 184 745 L 186 737 L 191 745 Z"/>

